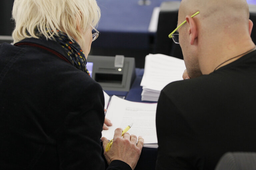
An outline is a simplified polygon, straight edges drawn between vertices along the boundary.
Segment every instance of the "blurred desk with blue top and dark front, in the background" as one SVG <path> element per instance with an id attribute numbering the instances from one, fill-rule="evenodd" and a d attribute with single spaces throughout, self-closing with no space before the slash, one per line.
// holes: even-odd
<path id="1" fill-rule="evenodd" d="M 139 5 L 139 0 L 97 0 L 101 19 L 97 30 L 101 33 L 92 47 L 135 48 L 150 47 L 148 27 L 154 7 L 166 0 L 151 0 Z"/>

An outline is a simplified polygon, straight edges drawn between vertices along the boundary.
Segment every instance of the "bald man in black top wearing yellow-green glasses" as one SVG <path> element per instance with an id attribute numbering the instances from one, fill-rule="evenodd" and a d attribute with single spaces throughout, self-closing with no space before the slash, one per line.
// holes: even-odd
<path id="1" fill-rule="evenodd" d="M 156 169 L 213 170 L 226 152 L 256 151 L 253 23 L 246 0 L 182 0 L 183 21 L 185 80 L 158 100 Z"/>

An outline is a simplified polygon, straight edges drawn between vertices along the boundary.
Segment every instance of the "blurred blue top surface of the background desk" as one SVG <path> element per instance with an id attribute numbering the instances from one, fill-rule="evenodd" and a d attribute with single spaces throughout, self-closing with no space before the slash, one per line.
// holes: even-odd
<path id="1" fill-rule="evenodd" d="M 166 0 L 151 0 L 139 5 L 138 0 L 97 0 L 101 9 L 98 30 L 101 32 L 148 33 L 154 7 Z"/>

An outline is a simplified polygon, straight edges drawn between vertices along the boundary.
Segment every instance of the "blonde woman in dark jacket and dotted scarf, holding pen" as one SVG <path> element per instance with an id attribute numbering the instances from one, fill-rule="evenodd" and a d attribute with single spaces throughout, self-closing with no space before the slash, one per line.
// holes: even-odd
<path id="1" fill-rule="evenodd" d="M 104 96 L 86 68 L 99 18 L 95 0 L 14 1 L 14 45 L 0 44 L 1 170 L 104 169 Z M 108 169 L 139 159 L 143 139 L 121 133 Z"/>

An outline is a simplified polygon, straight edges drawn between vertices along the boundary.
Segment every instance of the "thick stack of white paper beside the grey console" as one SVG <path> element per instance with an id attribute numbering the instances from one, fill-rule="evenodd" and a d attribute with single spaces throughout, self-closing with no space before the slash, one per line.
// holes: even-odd
<path id="1" fill-rule="evenodd" d="M 182 80 L 186 69 L 184 60 L 164 54 L 149 54 L 145 57 L 144 74 L 141 80 L 142 101 L 158 101 L 161 90 L 169 83 Z"/>

